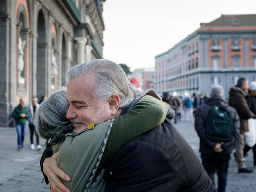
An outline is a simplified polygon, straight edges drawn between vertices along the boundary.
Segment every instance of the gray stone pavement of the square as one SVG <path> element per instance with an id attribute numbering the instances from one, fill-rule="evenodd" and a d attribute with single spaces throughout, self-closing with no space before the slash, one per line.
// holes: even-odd
<path id="1" fill-rule="evenodd" d="M 191 122 L 178 122 L 175 127 L 186 138 L 196 155 L 200 158 L 199 138 Z M 45 146 L 45 140 L 40 144 Z M 0 127 L 0 191 L 2 192 L 48 192 L 49 185 L 41 184 L 43 175 L 40 170 L 40 151 L 30 149 L 29 129 L 22 151 L 17 151 L 16 129 L 13 127 Z M 253 156 L 250 150 L 246 158 L 246 166 L 253 168 Z M 228 170 L 227 192 L 255 192 L 256 169 L 253 173 L 237 173 L 237 164 L 231 156 Z"/>

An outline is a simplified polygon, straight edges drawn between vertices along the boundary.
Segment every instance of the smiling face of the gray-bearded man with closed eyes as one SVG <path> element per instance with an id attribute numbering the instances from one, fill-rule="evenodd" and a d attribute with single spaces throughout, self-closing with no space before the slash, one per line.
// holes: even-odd
<path id="1" fill-rule="evenodd" d="M 67 100 L 69 108 L 67 118 L 74 132 L 81 132 L 89 124 L 100 124 L 111 119 L 108 101 L 99 101 L 92 96 L 94 92 L 93 76 L 75 78 L 68 82 Z"/>

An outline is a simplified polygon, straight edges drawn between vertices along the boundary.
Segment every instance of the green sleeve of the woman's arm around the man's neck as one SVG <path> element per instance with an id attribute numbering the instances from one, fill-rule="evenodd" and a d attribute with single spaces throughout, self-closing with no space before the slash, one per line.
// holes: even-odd
<path id="1" fill-rule="evenodd" d="M 99 170 L 128 142 L 163 123 L 168 109 L 167 103 L 146 95 L 133 109 L 117 117 L 113 122 Z"/>

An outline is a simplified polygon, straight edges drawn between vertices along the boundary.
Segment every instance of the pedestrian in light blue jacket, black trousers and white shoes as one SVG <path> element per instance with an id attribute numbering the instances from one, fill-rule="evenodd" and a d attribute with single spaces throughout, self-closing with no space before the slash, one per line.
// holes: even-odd
<path id="1" fill-rule="evenodd" d="M 39 107 L 39 104 L 37 103 L 38 99 L 37 97 L 32 97 L 32 104 L 28 105 L 28 126 L 30 131 L 30 148 L 35 149 L 34 144 L 34 133 L 36 135 L 36 149 L 40 150 L 42 149 L 41 145 L 39 145 L 39 136 L 35 132 L 35 122 L 34 122 L 34 115 L 36 112 L 36 109 Z"/>

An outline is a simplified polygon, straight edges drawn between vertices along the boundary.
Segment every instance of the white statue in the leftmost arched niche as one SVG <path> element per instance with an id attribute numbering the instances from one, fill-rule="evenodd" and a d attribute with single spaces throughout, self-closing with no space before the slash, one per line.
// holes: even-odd
<path id="1" fill-rule="evenodd" d="M 18 82 L 20 84 L 25 84 L 25 78 L 21 76 L 22 71 L 24 70 L 24 49 L 26 41 L 19 37 L 18 42 Z"/>

